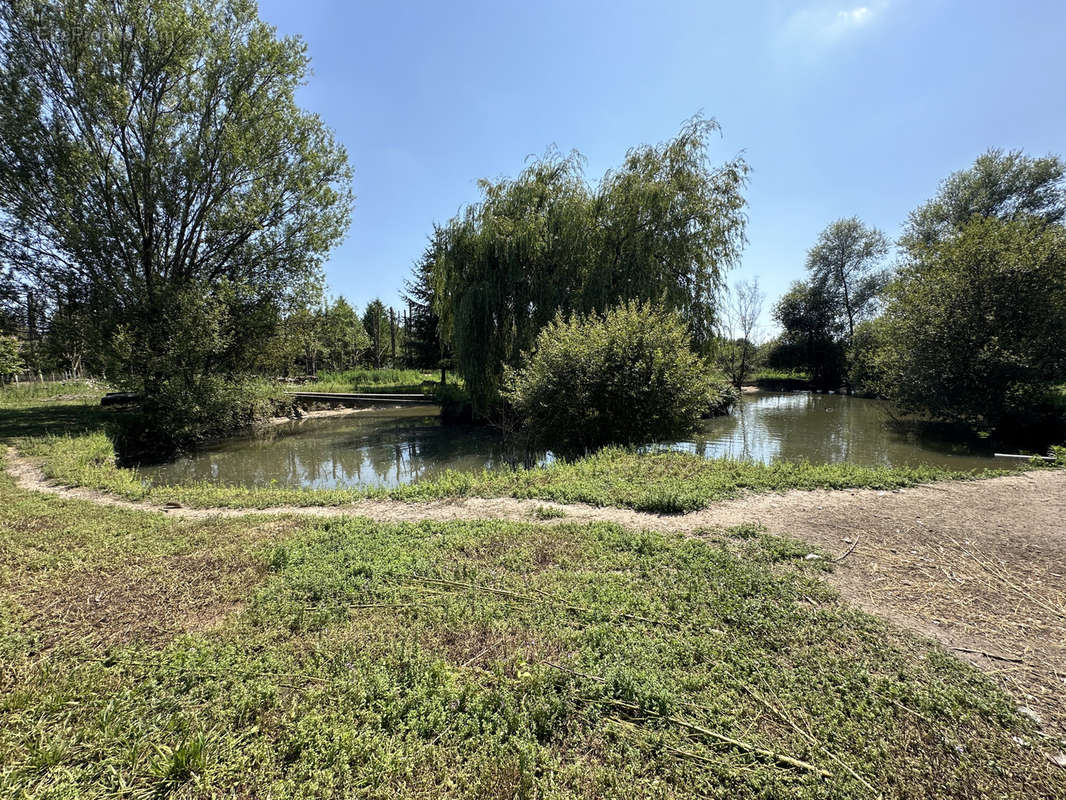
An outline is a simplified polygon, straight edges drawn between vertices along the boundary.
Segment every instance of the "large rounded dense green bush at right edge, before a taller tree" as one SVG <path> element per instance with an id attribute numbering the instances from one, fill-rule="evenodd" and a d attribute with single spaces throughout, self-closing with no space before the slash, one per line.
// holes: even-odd
<path id="1" fill-rule="evenodd" d="M 914 247 L 884 321 L 884 394 L 982 431 L 1047 425 L 1066 377 L 1066 229 L 974 218 Z"/>

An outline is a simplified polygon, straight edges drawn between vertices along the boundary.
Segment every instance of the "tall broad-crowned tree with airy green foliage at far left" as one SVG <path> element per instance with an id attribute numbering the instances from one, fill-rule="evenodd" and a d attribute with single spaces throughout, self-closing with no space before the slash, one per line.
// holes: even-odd
<path id="1" fill-rule="evenodd" d="M 13 2 L 0 28 L 3 258 L 83 299 L 108 377 L 155 409 L 238 375 L 348 225 L 303 43 L 243 0 Z"/>

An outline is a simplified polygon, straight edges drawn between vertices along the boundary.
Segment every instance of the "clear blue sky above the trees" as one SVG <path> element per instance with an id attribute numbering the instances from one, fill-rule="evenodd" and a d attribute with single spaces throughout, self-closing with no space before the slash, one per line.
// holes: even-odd
<path id="1" fill-rule="evenodd" d="M 335 294 L 399 303 L 435 221 L 549 145 L 598 178 L 697 111 L 753 167 L 730 283 L 768 307 L 856 214 L 894 238 L 988 147 L 1066 150 L 1066 2 L 261 0 L 308 43 L 300 100 L 345 145 L 356 202 Z"/>

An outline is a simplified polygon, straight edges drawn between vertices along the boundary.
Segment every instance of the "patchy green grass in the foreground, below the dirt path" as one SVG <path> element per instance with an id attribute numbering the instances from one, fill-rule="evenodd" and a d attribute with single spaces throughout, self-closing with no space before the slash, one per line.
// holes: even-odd
<path id="1" fill-rule="evenodd" d="M 846 608 L 826 560 L 755 527 L 278 528 L 101 509 L 6 476 L 0 519 L 3 797 L 1063 788 L 990 682 Z M 176 569 L 211 554 L 255 579 L 217 592 Z M 132 614 L 83 613 L 103 581 L 146 573 L 158 591 L 132 593 Z M 212 624 L 187 619 L 191 596 L 219 606 Z"/>

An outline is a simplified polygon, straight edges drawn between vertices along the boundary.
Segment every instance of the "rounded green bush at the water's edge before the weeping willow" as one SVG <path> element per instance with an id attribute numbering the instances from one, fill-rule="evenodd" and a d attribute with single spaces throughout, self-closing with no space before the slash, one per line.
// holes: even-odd
<path id="1" fill-rule="evenodd" d="M 681 436 L 726 383 L 693 352 L 678 315 L 629 303 L 602 317 L 556 317 L 510 375 L 506 397 L 535 444 L 575 453 Z"/>

